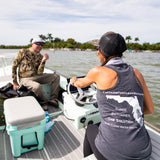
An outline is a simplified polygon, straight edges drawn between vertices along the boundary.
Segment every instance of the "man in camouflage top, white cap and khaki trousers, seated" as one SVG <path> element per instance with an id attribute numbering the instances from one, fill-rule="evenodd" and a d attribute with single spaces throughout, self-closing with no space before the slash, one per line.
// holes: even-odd
<path id="1" fill-rule="evenodd" d="M 31 47 L 21 49 L 15 57 L 12 65 L 13 89 L 19 87 L 17 81 L 17 68 L 20 85 L 31 89 L 40 99 L 40 104 L 44 110 L 47 110 L 46 103 L 58 107 L 58 89 L 60 77 L 56 73 L 43 73 L 45 63 L 49 59 L 47 53 L 40 54 L 45 42 L 41 38 L 34 38 Z M 43 93 L 41 84 L 51 83 L 51 96 L 48 101 Z"/>

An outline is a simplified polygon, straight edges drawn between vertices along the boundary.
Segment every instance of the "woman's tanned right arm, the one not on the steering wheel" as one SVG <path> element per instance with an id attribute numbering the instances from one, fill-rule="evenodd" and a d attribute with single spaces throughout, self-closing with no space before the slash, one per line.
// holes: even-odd
<path id="1" fill-rule="evenodd" d="M 148 87 L 146 85 L 146 82 L 145 82 L 142 74 L 137 69 L 134 69 L 134 72 L 143 87 L 143 92 L 144 92 L 143 113 L 144 114 L 152 114 L 154 112 L 154 104 L 152 101 L 152 97 L 149 93 Z"/>

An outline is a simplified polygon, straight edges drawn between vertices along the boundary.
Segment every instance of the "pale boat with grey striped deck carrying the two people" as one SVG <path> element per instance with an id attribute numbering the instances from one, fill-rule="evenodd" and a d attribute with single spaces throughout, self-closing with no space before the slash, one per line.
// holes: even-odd
<path id="1" fill-rule="evenodd" d="M 0 87 L 11 82 L 11 65 L 1 56 L 3 68 L 0 68 Z M 54 73 L 45 68 L 44 72 Z M 60 75 L 59 108 L 48 106 L 49 116 L 55 124 L 45 135 L 42 150 L 33 150 L 13 157 L 9 135 L 5 126 L 0 126 L 0 159 L 1 160 L 96 160 L 94 154 L 83 158 L 83 140 L 87 125 L 99 123 L 100 115 L 96 105 L 96 85 L 79 90 L 71 86 L 69 78 Z M 43 85 L 46 97 L 50 93 L 50 84 Z M 145 127 L 152 140 L 151 160 L 160 159 L 160 129 L 145 121 Z"/>

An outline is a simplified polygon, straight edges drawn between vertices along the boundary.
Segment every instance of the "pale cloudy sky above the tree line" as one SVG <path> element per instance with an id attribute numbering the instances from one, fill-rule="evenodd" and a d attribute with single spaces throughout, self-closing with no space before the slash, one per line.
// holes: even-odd
<path id="1" fill-rule="evenodd" d="M 0 0 L 0 45 L 48 33 L 84 43 L 108 31 L 160 42 L 160 0 Z"/>

